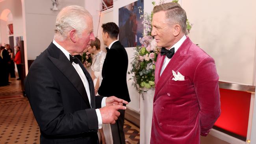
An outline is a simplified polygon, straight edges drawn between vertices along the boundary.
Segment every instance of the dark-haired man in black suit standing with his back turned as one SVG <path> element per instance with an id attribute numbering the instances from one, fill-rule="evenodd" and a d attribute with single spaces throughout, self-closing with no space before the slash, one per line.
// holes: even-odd
<path id="1" fill-rule="evenodd" d="M 119 28 L 114 22 L 102 25 L 104 45 L 108 46 L 106 59 L 102 68 L 102 83 L 98 90 L 101 96 L 116 96 L 130 102 L 126 83 L 128 56 L 124 46 L 117 40 Z M 114 144 L 125 144 L 124 110 L 119 110 L 120 116 L 115 124 L 111 124 Z"/>

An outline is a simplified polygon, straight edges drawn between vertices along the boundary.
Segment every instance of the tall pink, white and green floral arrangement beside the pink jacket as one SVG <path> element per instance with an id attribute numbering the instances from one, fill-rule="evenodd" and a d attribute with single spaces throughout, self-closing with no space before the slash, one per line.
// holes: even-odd
<path id="1" fill-rule="evenodd" d="M 160 0 L 159 4 L 163 4 L 165 0 Z M 173 0 L 173 2 L 178 3 L 178 0 Z M 153 6 L 156 5 L 156 3 L 152 2 Z M 156 46 L 156 40 L 151 36 L 152 31 L 152 17 L 153 12 L 151 13 L 145 13 L 143 16 L 143 27 L 144 27 L 144 33 L 143 37 L 139 38 L 139 42 L 141 43 L 141 46 L 137 46 L 134 48 L 134 59 L 131 63 L 132 69 L 128 74 L 133 74 L 134 83 L 136 90 L 139 92 L 139 94 L 142 95 L 143 99 L 143 92 L 147 92 L 147 89 L 154 88 L 155 87 L 155 63 L 157 55 L 160 53 L 160 47 Z M 191 30 L 191 24 L 189 24 L 187 20 L 187 32 L 186 35 Z M 145 89 L 146 88 L 146 89 Z"/>

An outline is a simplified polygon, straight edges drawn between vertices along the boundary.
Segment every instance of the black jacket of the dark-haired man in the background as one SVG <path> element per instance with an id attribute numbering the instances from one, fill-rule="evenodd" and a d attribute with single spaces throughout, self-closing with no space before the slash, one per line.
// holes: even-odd
<path id="1" fill-rule="evenodd" d="M 116 96 L 130 102 L 126 83 L 128 55 L 119 41 L 108 50 L 103 67 L 102 83 L 98 90 L 101 96 Z"/>

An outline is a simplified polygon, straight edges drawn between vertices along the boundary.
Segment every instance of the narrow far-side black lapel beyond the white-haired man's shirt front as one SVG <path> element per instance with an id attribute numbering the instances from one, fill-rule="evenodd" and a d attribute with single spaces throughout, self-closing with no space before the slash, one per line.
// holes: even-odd
<path id="1" fill-rule="evenodd" d="M 93 79 L 91 78 L 91 75 L 89 74 L 89 72 L 87 72 L 87 70 L 85 69 L 85 67 L 81 63 L 81 61 L 79 61 L 78 64 L 82 68 L 83 73 L 85 74 L 85 77 L 87 78 L 87 81 L 89 83 L 90 94 L 91 94 L 91 107 L 95 108 L 96 106 L 95 106 L 95 93 L 94 93 Z"/>

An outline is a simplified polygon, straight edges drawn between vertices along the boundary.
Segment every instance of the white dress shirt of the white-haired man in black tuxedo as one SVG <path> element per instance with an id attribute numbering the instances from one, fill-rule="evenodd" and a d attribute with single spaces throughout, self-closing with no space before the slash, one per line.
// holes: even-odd
<path id="1" fill-rule="evenodd" d="M 67 59 L 69 59 L 69 55 L 71 55 L 71 54 L 67 50 L 65 50 L 65 48 L 63 48 L 61 45 L 59 45 L 55 40 L 53 40 L 52 43 L 55 44 L 66 55 Z M 83 70 L 80 67 L 80 65 L 73 62 L 72 66 L 74 66 L 74 68 L 76 69 L 76 72 L 78 73 L 78 75 L 80 76 L 80 78 L 83 82 L 83 86 L 85 87 L 86 94 L 88 96 L 88 100 L 89 100 L 89 103 L 91 105 L 91 94 L 90 94 L 90 88 L 89 88 L 88 80 L 87 80 L 85 74 L 83 73 Z M 102 99 L 102 102 L 101 102 L 102 107 L 106 106 L 106 98 L 107 97 L 104 97 Z M 97 114 L 97 117 L 98 117 L 98 128 L 101 129 L 102 128 L 102 117 L 101 117 L 101 114 L 100 114 L 100 109 L 95 109 L 95 110 L 96 110 L 96 114 Z"/>

